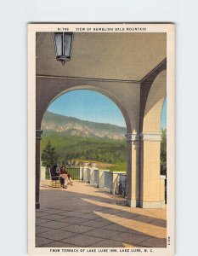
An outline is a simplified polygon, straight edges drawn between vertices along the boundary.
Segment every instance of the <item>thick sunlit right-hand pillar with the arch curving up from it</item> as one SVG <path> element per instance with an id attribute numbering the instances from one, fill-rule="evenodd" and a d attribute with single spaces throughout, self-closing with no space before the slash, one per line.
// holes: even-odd
<path id="1" fill-rule="evenodd" d="M 167 72 L 163 70 L 151 84 L 144 108 L 140 196 L 142 207 L 161 207 L 165 204 L 165 177 L 161 176 L 161 125 L 165 125 L 166 95 Z"/>

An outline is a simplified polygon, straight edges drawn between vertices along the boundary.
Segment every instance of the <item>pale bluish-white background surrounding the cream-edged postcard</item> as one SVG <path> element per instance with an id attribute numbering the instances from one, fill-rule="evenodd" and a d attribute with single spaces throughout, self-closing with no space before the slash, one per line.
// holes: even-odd
<path id="1" fill-rule="evenodd" d="M 1 184 L 2 206 L 0 212 L 3 255 L 21 256 L 27 253 L 27 70 L 26 24 L 28 22 L 101 22 L 101 21 L 173 21 L 177 25 L 177 72 L 176 72 L 176 214 L 178 256 L 197 254 L 198 230 L 198 137 L 186 139 L 185 134 L 198 129 L 196 74 L 198 73 L 197 45 L 198 2 L 195 0 L 99 0 L 82 1 L 11 1 L 1 4 L 1 101 L 4 120 L 0 125 L 1 159 L 20 175 L 17 184 Z M 8 32 L 9 31 L 9 32 Z M 8 53 L 14 53 L 12 60 Z M 20 116 L 20 117 L 19 117 Z M 20 121 L 19 121 L 20 119 Z M 17 127 L 14 124 L 17 123 Z M 4 136 L 5 135 L 5 136 Z M 9 154 L 8 154 L 9 153 Z M 17 221 L 14 216 L 17 216 Z M 9 234 L 9 239 L 4 234 Z M 12 245 L 10 244 L 12 240 Z"/>

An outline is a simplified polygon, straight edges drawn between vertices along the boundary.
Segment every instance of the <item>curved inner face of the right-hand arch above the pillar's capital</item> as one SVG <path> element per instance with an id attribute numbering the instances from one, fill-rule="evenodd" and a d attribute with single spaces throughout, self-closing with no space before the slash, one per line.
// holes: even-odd
<path id="1" fill-rule="evenodd" d="M 161 131 L 161 110 L 167 95 L 167 71 L 156 76 L 150 87 L 144 109 L 143 132 Z"/>

